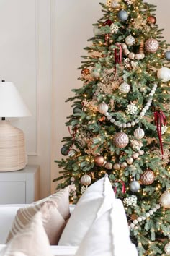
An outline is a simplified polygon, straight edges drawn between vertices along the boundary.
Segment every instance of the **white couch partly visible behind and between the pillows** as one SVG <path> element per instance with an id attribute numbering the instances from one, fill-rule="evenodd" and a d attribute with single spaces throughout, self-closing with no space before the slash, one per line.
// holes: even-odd
<path id="1" fill-rule="evenodd" d="M 19 208 L 26 205 L 0 205 L 0 251 L 5 247 L 6 237 L 12 226 L 14 216 Z M 70 212 L 73 212 L 75 205 L 70 205 Z M 53 255 L 58 256 L 73 256 L 76 253 L 77 247 L 71 246 L 50 246 Z"/>

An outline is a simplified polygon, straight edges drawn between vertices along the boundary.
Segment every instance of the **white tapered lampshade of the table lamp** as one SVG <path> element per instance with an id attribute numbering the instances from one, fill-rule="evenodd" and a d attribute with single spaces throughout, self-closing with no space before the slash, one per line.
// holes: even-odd
<path id="1" fill-rule="evenodd" d="M 0 116 L 31 116 L 30 111 L 12 82 L 0 82 Z"/>

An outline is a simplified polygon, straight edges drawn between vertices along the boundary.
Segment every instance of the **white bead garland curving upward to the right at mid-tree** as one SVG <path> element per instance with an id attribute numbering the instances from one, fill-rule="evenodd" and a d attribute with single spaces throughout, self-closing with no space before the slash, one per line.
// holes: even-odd
<path id="1" fill-rule="evenodd" d="M 156 92 L 156 88 L 157 88 L 157 84 L 153 85 L 153 88 L 151 90 L 151 93 L 149 93 L 149 99 L 146 103 L 146 106 L 143 107 L 143 109 L 141 110 L 139 116 L 134 120 L 134 121 L 128 121 L 127 123 L 122 123 L 120 124 L 120 121 L 116 121 L 114 118 L 112 118 L 112 112 L 106 112 L 104 115 L 107 116 L 107 120 L 109 120 L 112 124 L 115 124 L 117 127 L 122 127 L 122 128 L 130 128 L 130 127 L 134 127 L 135 124 L 138 124 L 140 119 L 143 118 L 143 116 L 145 116 L 146 112 L 148 111 L 149 107 L 151 106 L 151 103 L 153 101 L 153 95 Z"/>

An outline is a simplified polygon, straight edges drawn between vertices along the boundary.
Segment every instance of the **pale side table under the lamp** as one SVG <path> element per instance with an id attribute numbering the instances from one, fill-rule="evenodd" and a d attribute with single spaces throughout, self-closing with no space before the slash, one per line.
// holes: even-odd
<path id="1" fill-rule="evenodd" d="M 0 172 L 0 204 L 25 204 L 40 200 L 40 166 Z"/>

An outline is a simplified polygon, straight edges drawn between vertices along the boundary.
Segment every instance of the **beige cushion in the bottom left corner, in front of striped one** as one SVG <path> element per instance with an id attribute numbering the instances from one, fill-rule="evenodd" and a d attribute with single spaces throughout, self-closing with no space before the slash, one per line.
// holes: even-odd
<path id="1" fill-rule="evenodd" d="M 19 231 L 0 252 L 1 256 L 52 256 L 48 236 L 37 212 L 24 229 Z"/>

